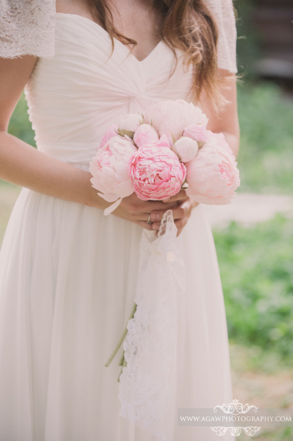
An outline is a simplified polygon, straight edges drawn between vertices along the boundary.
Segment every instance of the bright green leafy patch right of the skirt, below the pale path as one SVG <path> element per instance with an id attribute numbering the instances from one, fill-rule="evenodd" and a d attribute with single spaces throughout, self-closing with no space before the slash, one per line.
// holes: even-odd
<path id="1" fill-rule="evenodd" d="M 229 337 L 293 361 L 293 220 L 214 231 Z"/>

